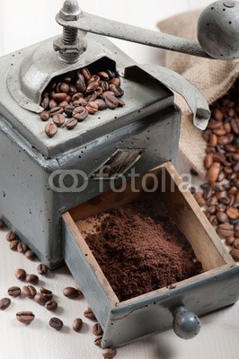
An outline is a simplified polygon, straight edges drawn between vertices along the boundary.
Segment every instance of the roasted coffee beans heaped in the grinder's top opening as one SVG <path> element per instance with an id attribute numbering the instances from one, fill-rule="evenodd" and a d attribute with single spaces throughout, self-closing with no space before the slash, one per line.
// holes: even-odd
<path id="1" fill-rule="evenodd" d="M 84 67 L 55 78 L 42 93 L 40 103 L 44 108 L 40 119 L 51 120 L 45 127 L 46 135 L 57 135 L 59 127 L 73 129 L 99 110 L 124 106 L 123 94 L 119 75 L 109 69 L 91 74 Z"/>

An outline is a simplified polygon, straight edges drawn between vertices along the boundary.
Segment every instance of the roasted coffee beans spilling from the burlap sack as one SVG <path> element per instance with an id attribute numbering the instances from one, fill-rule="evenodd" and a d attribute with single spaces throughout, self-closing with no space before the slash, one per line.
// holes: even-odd
<path id="1" fill-rule="evenodd" d="M 196 193 L 199 206 L 239 261 L 239 80 L 211 106 L 203 138 L 207 142 L 204 165 L 207 183 Z"/>

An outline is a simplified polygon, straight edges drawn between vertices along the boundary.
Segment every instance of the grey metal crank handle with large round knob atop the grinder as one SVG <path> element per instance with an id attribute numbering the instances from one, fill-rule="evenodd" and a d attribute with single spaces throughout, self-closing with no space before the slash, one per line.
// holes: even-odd
<path id="1" fill-rule="evenodd" d="M 68 31 L 89 31 L 210 59 L 230 60 L 239 57 L 238 1 L 220 0 L 201 13 L 198 22 L 199 42 L 84 13 L 76 0 L 66 0 L 56 20 Z"/>

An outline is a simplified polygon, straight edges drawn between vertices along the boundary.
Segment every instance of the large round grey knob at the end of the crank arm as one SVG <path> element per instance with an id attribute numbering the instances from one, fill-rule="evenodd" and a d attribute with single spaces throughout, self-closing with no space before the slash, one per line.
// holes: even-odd
<path id="1" fill-rule="evenodd" d="M 210 4 L 199 16 L 198 39 L 210 57 L 234 60 L 239 57 L 239 3 L 221 0 Z"/>

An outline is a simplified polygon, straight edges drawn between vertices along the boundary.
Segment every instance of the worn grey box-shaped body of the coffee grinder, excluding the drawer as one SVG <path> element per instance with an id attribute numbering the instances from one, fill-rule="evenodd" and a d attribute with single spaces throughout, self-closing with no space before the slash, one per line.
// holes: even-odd
<path id="1" fill-rule="evenodd" d="M 104 50 L 101 56 L 92 53 L 92 61 L 103 54 L 109 58 L 111 53 L 111 64 L 115 59 L 118 68 L 135 66 L 109 40 L 96 35 L 87 38 L 88 43 L 97 41 L 98 52 L 99 44 L 102 49 L 107 47 L 107 54 Z M 51 44 L 49 39 L 41 45 L 48 48 Z M 56 268 L 62 264 L 61 215 L 96 197 L 99 182 L 89 180 L 87 188 L 78 193 L 60 193 L 49 187 L 49 175 L 59 170 L 81 170 L 90 176 L 119 150 L 133 153 L 124 166 L 126 178 L 132 167 L 142 173 L 163 162 L 175 163 L 181 112 L 173 103 L 173 92 L 139 67 L 132 67 L 128 69 L 128 79 L 121 78 L 126 101 L 123 109 L 105 110 L 101 118 L 92 116 L 78 126 L 82 128 L 79 133 L 65 128 L 62 137 L 49 139 L 39 115 L 22 109 L 6 86 L 9 69 L 13 71 L 13 66 L 18 66 L 21 58 L 35 48 L 39 44 L 0 59 L 0 216 L 41 261 Z M 52 53 L 56 56 L 53 50 Z M 80 61 L 77 67 L 66 66 L 65 72 L 85 65 Z M 72 179 L 68 183 L 65 180 L 70 186 Z M 82 180 L 80 177 L 79 186 Z M 109 188 L 110 182 L 104 180 L 103 191 Z"/>

